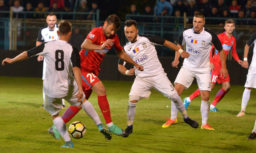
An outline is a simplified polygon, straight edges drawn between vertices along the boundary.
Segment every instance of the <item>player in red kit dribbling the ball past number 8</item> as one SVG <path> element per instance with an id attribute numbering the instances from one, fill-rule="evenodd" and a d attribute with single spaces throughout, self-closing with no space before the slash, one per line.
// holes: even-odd
<path id="1" fill-rule="evenodd" d="M 124 52 L 123 47 L 120 45 L 118 36 L 116 35 L 116 31 L 120 28 L 120 26 L 121 21 L 119 17 L 117 15 L 110 15 L 104 22 L 104 26 L 94 28 L 87 35 L 81 46 L 82 50 L 80 51 L 82 86 L 86 99 L 89 99 L 92 91 L 97 93 L 98 105 L 101 109 L 103 117 L 105 118 L 108 129 L 117 136 L 122 136 L 125 132 L 112 122 L 110 116 L 110 107 L 106 97 L 106 89 L 102 82 L 98 79 L 100 65 L 110 48 L 114 47 L 119 58 L 123 59 L 129 64 L 132 64 L 138 70 L 143 71 L 143 66 L 135 63 Z M 69 106 L 61 118 L 65 123 L 67 123 L 81 109 L 82 107 L 80 105 Z M 53 131 L 54 133 L 50 133 L 50 131 Z M 57 133 L 57 129 L 55 129 L 54 126 L 50 127 L 48 132 L 52 134 L 53 137 L 55 135 L 54 138 L 56 138 L 57 134 L 55 133 Z"/>

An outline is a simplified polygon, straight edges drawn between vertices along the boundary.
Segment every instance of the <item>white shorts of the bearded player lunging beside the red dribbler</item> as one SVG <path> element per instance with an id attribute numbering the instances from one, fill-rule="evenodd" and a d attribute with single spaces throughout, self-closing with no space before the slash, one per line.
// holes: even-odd
<path id="1" fill-rule="evenodd" d="M 138 95 L 140 97 L 148 99 L 152 89 L 159 91 L 165 97 L 169 97 L 170 95 L 177 93 L 172 83 L 166 76 L 166 73 L 161 73 L 149 77 L 136 76 L 129 96 Z"/>

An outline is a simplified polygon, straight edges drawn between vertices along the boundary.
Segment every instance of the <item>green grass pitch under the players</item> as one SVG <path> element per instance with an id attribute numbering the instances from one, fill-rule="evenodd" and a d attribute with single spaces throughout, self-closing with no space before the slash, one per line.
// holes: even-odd
<path id="1" fill-rule="evenodd" d="M 112 120 L 125 129 L 128 94 L 133 82 L 102 81 L 106 87 Z M 221 88 L 216 85 L 210 94 L 212 101 Z M 197 89 L 193 84 L 181 98 Z M 139 101 L 133 124 L 133 133 L 128 138 L 113 135 L 106 141 L 92 119 L 80 111 L 69 123 L 81 121 L 86 125 L 86 135 L 72 139 L 74 148 L 60 148 L 64 140 L 55 140 L 48 134 L 52 126 L 50 114 L 41 107 L 41 78 L 0 77 L 0 152 L 86 152 L 86 153 L 157 153 L 157 152 L 254 152 L 256 140 L 247 140 L 255 123 L 256 90 L 252 90 L 246 115 L 236 117 L 241 110 L 243 86 L 231 86 L 229 93 L 217 105 L 220 112 L 210 112 L 208 123 L 215 131 L 193 129 L 183 122 L 178 114 L 177 125 L 162 128 L 164 117 L 170 117 L 170 101 L 153 90 L 149 99 Z M 89 99 L 105 124 L 93 93 Z M 67 102 L 66 102 L 67 105 Z M 169 106 L 168 108 L 166 106 Z M 201 126 L 200 98 L 188 107 L 190 118 Z M 68 107 L 69 105 L 67 105 Z M 64 113 L 61 110 L 60 115 Z M 106 124 L 105 124 L 106 125 Z"/>

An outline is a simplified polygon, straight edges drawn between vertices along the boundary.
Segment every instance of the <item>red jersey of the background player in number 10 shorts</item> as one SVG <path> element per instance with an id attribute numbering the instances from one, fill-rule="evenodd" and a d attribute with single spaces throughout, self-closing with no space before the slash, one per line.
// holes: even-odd
<path id="1" fill-rule="evenodd" d="M 225 52 L 225 57 L 227 57 L 227 54 L 229 54 L 229 51 L 231 50 L 231 54 L 233 56 L 233 58 L 238 61 L 238 55 L 236 52 L 236 38 L 234 38 L 233 35 L 231 35 L 231 37 L 229 38 L 226 35 L 226 32 L 223 32 L 219 35 L 217 35 L 219 40 L 221 41 L 222 44 L 222 48 Z M 219 64 L 220 66 L 222 66 L 221 64 L 221 58 L 219 57 L 219 52 L 215 49 L 214 45 L 212 45 L 212 50 L 214 51 L 214 56 L 212 57 L 212 55 L 210 55 L 210 63 L 215 63 L 215 64 Z M 211 51 L 212 53 L 212 51 Z M 212 59 L 211 59 L 212 57 Z"/>

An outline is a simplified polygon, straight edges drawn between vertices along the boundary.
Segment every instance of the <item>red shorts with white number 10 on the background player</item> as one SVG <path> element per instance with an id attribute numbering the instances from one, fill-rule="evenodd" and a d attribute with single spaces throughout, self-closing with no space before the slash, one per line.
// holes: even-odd
<path id="1" fill-rule="evenodd" d="M 222 68 L 221 66 L 214 64 L 214 70 L 211 73 L 211 83 L 212 84 L 216 84 L 216 82 L 218 82 L 218 84 L 220 84 L 220 83 L 230 81 L 229 74 L 227 74 L 227 77 L 225 79 L 223 79 L 223 75 L 221 76 L 221 68 Z"/>

